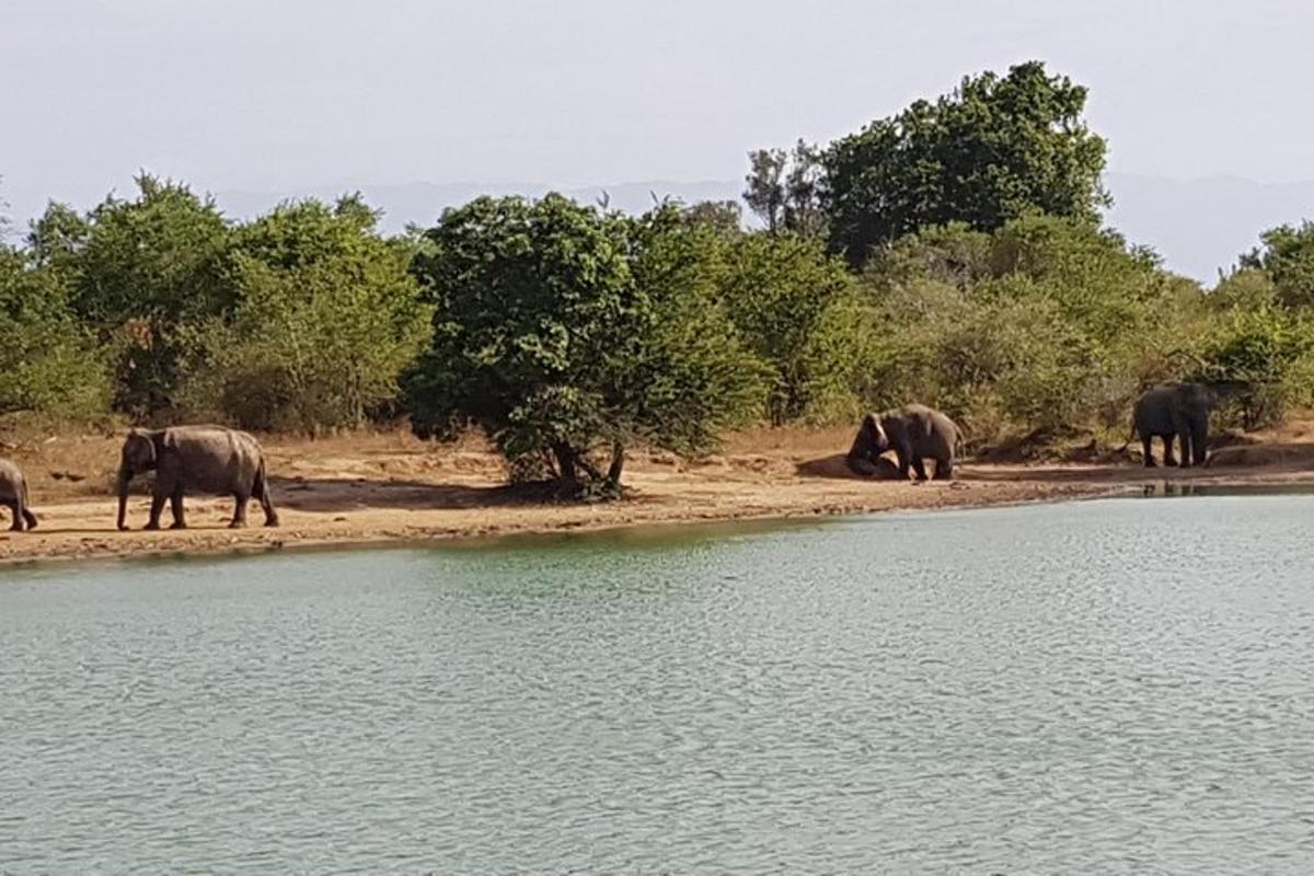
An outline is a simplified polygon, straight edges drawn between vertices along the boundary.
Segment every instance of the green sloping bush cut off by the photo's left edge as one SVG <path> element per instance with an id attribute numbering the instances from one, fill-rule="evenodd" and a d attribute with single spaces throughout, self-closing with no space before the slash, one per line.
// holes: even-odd
<path id="1" fill-rule="evenodd" d="M 104 362 L 67 297 L 55 272 L 0 246 L 0 414 L 93 419 L 108 410 Z"/>

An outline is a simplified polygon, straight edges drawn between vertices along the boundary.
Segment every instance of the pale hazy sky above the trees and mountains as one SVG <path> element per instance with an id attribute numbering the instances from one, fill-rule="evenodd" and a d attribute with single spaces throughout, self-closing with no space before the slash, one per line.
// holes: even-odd
<path id="1" fill-rule="evenodd" d="M 1301 0 L 0 0 L 0 196 L 735 179 L 1039 58 L 1110 168 L 1314 177 Z"/>

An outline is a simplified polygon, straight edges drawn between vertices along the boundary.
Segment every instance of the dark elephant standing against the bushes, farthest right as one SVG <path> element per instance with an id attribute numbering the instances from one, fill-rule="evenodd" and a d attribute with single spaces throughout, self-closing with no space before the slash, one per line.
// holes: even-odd
<path id="1" fill-rule="evenodd" d="M 1209 449 L 1209 412 L 1242 383 L 1160 383 L 1146 390 L 1131 411 L 1131 437 L 1141 436 L 1147 469 L 1155 468 L 1154 439 L 1163 439 L 1163 464 L 1177 465 L 1173 440 L 1181 448 L 1181 465 L 1204 465 Z M 1130 441 L 1129 441 L 1130 443 Z"/>

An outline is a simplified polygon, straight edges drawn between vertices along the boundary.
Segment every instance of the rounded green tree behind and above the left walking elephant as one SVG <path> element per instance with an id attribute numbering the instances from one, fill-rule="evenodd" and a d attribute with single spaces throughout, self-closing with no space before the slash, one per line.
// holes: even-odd
<path id="1" fill-rule="evenodd" d="M 191 410 L 317 432 L 363 426 L 393 402 L 430 339 L 411 248 L 378 238 L 356 197 L 283 205 L 234 238 L 239 303 L 202 331 Z"/>

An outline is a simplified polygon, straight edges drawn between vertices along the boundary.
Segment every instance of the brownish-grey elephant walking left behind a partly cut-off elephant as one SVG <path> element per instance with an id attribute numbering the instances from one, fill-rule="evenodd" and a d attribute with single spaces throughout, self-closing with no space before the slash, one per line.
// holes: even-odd
<path id="1" fill-rule="evenodd" d="M 118 466 L 118 528 L 127 529 L 127 486 L 134 475 L 155 471 L 147 529 L 159 529 L 164 502 L 173 512 L 173 529 L 184 529 L 183 495 L 189 491 L 231 495 L 237 502 L 230 527 L 246 525 L 247 503 L 264 508 L 264 525 L 279 525 L 269 498 L 264 450 L 247 432 L 222 426 L 175 426 L 133 429 L 124 440 Z"/>

